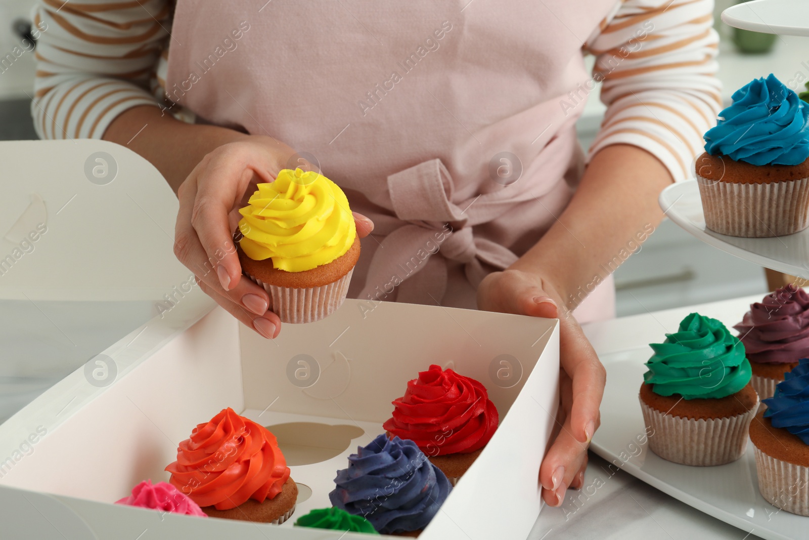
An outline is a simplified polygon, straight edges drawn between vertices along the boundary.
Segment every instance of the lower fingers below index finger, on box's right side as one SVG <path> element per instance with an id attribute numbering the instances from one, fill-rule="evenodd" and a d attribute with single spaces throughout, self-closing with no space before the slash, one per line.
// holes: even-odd
<path id="1" fill-rule="evenodd" d="M 587 444 L 576 440 L 570 433 L 570 421 L 567 421 L 540 466 L 540 484 L 545 503 L 561 506 L 568 487 L 581 487 L 585 467 Z"/>

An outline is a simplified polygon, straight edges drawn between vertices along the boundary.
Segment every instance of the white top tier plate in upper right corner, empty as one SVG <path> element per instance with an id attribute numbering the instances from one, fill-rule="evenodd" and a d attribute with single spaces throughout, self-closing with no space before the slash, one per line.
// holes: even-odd
<path id="1" fill-rule="evenodd" d="M 755 0 L 727 8 L 722 21 L 735 28 L 781 34 L 809 36 L 807 0 Z"/>

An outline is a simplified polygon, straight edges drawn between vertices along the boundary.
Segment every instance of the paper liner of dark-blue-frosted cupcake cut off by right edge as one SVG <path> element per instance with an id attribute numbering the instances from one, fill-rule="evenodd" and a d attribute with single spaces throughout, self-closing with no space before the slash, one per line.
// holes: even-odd
<path id="1" fill-rule="evenodd" d="M 761 496 L 781 510 L 809 516 L 809 467 L 781 461 L 754 448 Z"/>

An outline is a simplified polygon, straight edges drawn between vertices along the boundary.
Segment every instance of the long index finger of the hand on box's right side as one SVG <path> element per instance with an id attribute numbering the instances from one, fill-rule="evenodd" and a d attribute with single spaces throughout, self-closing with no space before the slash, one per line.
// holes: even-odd
<path id="1" fill-rule="evenodd" d="M 561 317 L 559 323 L 561 368 L 572 381 L 570 432 L 578 441 L 589 443 L 601 423 L 599 406 L 604 397 L 607 372 L 578 322 L 573 317 Z"/>

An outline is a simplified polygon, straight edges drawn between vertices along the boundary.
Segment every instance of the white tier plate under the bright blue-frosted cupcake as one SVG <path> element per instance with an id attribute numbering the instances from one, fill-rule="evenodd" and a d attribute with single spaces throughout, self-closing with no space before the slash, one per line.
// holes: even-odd
<path id="1" fill-rule="evenodd" d="M 809 11 L 809 0 L 807 11 Z M 706 244 L 765 268 L 809 278 L 809 228 L 775 238 L 738 238 L 705 228 L 700 188 L 696 180 L 678 182 L 663 189 L 660 207 L 666 215 Z"/>

